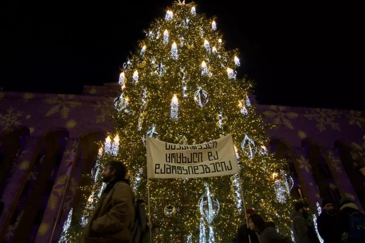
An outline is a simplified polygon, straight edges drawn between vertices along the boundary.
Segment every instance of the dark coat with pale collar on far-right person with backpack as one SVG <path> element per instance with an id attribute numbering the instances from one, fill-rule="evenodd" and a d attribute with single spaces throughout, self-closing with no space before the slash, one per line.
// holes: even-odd
<path id="1" fill-rule="evenodd" d="M 351 242 L 350 217 L 353 213 L 358 213 L 359 217 L 365 217 L 360 213 L 358 207 L 353 203 L 346 203 L 340 208 L 341 212 L 337 220 L 337 232 L 341 242 Z"/>

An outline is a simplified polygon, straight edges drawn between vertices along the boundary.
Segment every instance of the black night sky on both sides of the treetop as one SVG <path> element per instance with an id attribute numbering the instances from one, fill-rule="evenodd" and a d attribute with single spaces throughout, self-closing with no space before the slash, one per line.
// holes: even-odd
<path id="1" fill-rule="evenodd" d="M 8 1 L 9 2 L 9 1 Z M 172 1 L 10 1 L 1 11 L 5 91 L 74 93 L 118 80 L 142 30 Z M 261 104 L 365 109 L 361 8 L 318 1 L 196 1 L 217 16 Z"/>

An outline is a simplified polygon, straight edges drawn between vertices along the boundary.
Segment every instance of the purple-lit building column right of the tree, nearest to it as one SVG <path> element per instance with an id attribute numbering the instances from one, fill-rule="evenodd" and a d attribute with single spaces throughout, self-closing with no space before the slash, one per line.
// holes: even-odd
<path id="1" fill-rule="evenodd" d="M 294 156 L 293 161 L 297 169 L 300 184 L 302 185 L 304 195 L 307 197 L 312 205 L 316 205 L 316 202 L 321 203 L 318 186 L 314 180 L 312 173 L 312 166 L 309 163 L 304 148 L 292 147 Z"/>

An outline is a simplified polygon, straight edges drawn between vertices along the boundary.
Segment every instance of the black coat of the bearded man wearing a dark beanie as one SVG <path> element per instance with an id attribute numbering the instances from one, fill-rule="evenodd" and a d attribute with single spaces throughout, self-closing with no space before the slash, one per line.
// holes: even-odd
<path id="1" fill-rule="evenodd" d="M 338 235 L 334 234 L 336 230 L 336 214 L 329 214 L 326 210 L 318 216 L 317 229 L 320 237 L 322 237 L 324 243 L 337 243 L 339 242 Z"/>

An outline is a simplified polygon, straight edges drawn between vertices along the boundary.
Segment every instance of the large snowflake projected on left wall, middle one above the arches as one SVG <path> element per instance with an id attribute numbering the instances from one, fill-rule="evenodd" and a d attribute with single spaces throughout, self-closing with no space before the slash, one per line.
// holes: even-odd
<path id="1" fill-rule="evenodd" d="M 73 107 L 80 107 L 82 103 L 74 99 L 75 95 L 66 95 L 61 94 L 55 97 L 47 98 L 45 101 L 47 104 L 53 105 L 48 111 L 46 116 L 51 116 L 57 113 L 58 111 L 61 112 L 61 116 L 63 119 L 66 119 L 70 113 L 70 108 Z M 69 107 L 68 107 L 69 106 Z"/>

